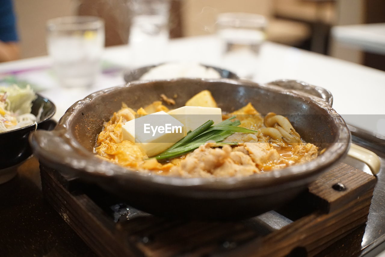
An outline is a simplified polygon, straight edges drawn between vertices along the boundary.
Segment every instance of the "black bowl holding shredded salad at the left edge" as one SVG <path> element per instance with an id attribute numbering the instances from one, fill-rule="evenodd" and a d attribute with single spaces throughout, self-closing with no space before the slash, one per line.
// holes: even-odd
<path id="1" fill-rule="evenodd" d="M 40 107 L 43 106 L 43 112 L 40 120 L 37 122 L 37 128 L 52 130 L 55 127 L 55 122 L 52 122 L 50 118 L 55 114 L 56 107 L 52 101 L 38 94 L 36 95 L 37 98 L 32 103 L 31 113 L 37 115 Z M 31 156 L 32 149 L 28 143 L 28 136 L 35 128 L 36 125 L 32 124 L 0 133 L 0 169 L 14 166 Z"/>

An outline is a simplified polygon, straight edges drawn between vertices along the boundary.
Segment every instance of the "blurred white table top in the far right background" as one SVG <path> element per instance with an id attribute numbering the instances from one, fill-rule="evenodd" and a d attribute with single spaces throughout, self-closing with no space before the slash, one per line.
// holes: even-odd
<path id="1" fill-rule="evenodd" d="M 331 35 L 338 42 L 385 54 L 385 23 L 335 26 Z"/>

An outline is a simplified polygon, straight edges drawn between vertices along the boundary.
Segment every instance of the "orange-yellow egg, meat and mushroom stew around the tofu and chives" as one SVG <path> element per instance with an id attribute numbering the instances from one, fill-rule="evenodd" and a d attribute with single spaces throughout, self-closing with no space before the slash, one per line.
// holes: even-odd
<path id="1" fill-rule="evenodd" d="M 201 103 L 217 107 L 209 91 L 203 97 L 196 95 L 187 101 L 189 106 Z M 201 92 L 202 93 L 202 92 Z M 197 101 L 196 101 L 197 100 Z M 194 105 L 194 103 L 197 103 Z M 139 108 L 137 111 L 123 105 L 114 113 L 97 137 L 95 152 L 100 157 L 118 165 L 141 171 L 152 171 L 169 176 L 191 177 L 229 177 L 249 176 L 251 174 L 288 167 L 311 161 L 318 156 L 318 147 L 303 142 L 290 121 L 275 113 L 263 117 L 251 103 L 235 112 L 224 114 L 223 120 L 236 116 L 239 127 L 257 130 L 256 133 L 236 132 L 223 142 L 237 142 L 238 145 L 218 145 L 206 142 L 193 152 L 166 162 L 149 158 L 144 150 L 134 142 L 122 140 L 122 124 L 134 119 L 135 115 L 147 115 L 169 109 L 161 101 Z"/>

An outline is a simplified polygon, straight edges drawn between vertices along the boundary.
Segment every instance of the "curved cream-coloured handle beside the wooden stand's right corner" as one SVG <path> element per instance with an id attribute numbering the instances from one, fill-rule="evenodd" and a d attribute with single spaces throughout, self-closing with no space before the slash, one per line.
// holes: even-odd
<path id="1" fill-rule="evenodd" d="M 374 152 L 363 148 L 356 144 L 350 144 L 350 149 L 348 151 L 348 156 L 362 161 L 370 167 L 373 175 L 377 175 L 380 171 L 381 160 Z"/>

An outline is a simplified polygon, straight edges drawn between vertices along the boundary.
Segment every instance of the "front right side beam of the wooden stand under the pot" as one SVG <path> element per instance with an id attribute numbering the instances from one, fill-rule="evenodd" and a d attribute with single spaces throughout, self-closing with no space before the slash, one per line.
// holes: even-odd
<path id="1" fill-rule="evenodd" d="M 257 239 L 231 252 L 231 256 L 285 256 L 296 247 L 304 247 L 316 254 L 341 235 L 357 228 L 367 220 L 373 188 L 366 195 L 332 213 L 313 213 L 285 228 Z M 256 248 L 255 245 L 261 245 Z M 271 247 L 274 245 L 274 247 Z"/>

